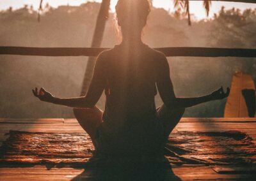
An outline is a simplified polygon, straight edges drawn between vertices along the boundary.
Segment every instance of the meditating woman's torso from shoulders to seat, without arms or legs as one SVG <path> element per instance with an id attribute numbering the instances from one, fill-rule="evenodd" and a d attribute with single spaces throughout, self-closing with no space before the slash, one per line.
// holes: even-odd
<path id="1" fill-rule="evenodd" d="M 101 150 L 108 152 L 111 145 L 109 152 L 124 154 L 125 150 L 131 152 L 129 148 L 137 153 L 161 148 L 163 126 L 154 102 L 161 55 L 144 44 L 130 49 L 116 45 L 103 53 L 101 61 L 108 70 L 104 72 L 106 107 L 98 135 Z"/>

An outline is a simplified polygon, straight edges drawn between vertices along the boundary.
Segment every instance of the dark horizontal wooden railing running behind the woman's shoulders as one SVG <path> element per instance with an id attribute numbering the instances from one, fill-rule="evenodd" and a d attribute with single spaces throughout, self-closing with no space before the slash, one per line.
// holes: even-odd
<path id="1" fill-rule="evenodd" d="M 36 48 L 0 47 L 0 55 L 32 56 L 97 56 L 109 48 Z M 204 47 L 166 47 L 155 48 L 166 57 L 256 57 L 256 49 L 245 48 L 204 48 Z"/>

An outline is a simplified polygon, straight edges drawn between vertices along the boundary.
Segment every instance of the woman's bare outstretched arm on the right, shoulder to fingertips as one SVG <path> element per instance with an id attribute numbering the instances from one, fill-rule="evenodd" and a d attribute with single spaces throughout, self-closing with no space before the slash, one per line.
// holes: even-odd
<path id="1" fill-rule="evenodd" d="M 221 87 L 217 91 L 212 92 L 207 96 L 202 96 L 198 98 L 176 98 L 173 91 L 173 84 L 170 78 L 170 68 L 166 57 L 163 55 L 159 59 L 159 69 L 157 70 L 157 89 L 163 100 L 163 103 L 170 109 L 175 108 L 188 108 L 191 106 L 198 105 L 200 103 L 205 103 L 207 101 L 217 100 L 227 98 L 229 94 L 229 88 L 225 93 Z"/>

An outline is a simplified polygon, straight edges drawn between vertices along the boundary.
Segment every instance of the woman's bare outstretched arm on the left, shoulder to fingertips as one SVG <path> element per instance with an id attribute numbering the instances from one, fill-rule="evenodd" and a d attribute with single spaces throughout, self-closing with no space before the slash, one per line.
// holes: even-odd
<path id="1" fill-rule="evenodd" d="M 55 98 L 54 96 L 52 96 L 50 92 L 45 91 L 44 88 L 41 88 L 40 91 L 38 91 L 38 89 L 35 88 L 35 90 L 32 90 L 33 94 L 41 101 L 54 103 L 56 105 L 64 105 L 73 108 L 92 108 L 99 100 L 104 90 L 104 85 L 106 83 L 106 66 L 104 66 L 103 60 L 104 56 L 100 54 L 95 63 L 92 82 L 90 83 L 90 87 L 88 89 L 86 96 L 66 99 Z"/>

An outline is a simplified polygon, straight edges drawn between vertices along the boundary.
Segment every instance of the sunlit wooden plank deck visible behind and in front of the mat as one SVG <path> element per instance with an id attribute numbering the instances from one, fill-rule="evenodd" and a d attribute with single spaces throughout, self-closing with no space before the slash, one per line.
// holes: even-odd
<path id="1" fill-rule="evenodd" d="M 0 145 L 10 130 L 45 133 L 84 133 L 76 119 L 0 119 Z M 243 131 L 256 143 L 256 118 L 182 118 L 174 131 Z M 240 165 L 172 166 L 173 173 L 181 180 L 255 180 L 256 168 Z M 0 180 L 87 180 L 83 168 L 47 168 L 47 166 L 0 167 Z"/>

